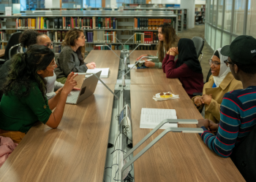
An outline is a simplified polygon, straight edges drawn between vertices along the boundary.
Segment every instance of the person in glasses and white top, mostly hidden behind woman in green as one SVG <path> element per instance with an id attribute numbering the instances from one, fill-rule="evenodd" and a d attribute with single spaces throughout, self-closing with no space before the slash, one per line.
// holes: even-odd
<path id="1" fill-rule="evenodd" d="M 46 47 L 49 47 L 50 49 L 53 49 L 53 46 L 51 44 L 50 38 L 46 36 L 44 33 L 38 33 L 37 31 L 33 30 L 26 30 L 23 31 L 23 33 L 20 35 L 19 38 L 21 46 L 26 49 L 28 49 L 29 46 L 38 44 L 38 45 L 45 45 Z M 26 52 L 26 50 L 24 50 Z M 0 90 L 4 87 L 4 82 L 6 82 L 7 75 L 10 71 L 10 65 L 12 63 L 12 59 L 7 60 L 3 66 L 0 68 Z M 64 84 L 61 84 L 59 82 L 56 82 L 56 74 L 53 73 L 53 76 L 50 76 L 49 78 L 45 78 L 48 82 L 47 84 L 47 98 L 53 98 L 56 93 L 58 93 L 59 89 L 64 86 Z M 77 89 L 77 88 L 75 88 Z M 56 90 L 56 92 L 54 92 Z M 0 91 L 0 97 L 2 95 L 2 91 Z M 1 100 L 1 99 L 0 99 Z"/>

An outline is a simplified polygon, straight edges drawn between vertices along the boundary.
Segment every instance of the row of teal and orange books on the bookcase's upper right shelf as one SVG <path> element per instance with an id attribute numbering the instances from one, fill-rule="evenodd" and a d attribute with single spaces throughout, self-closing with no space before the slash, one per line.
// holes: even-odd
<path id="1" fill-rule="evenodd" d="M 164 19 L 151 19 L 151 18 L 136 18 L 135 17 L 135 30 L 157 30 L 159 25 L 164 23 L 169 23 L 175 27 L 175 22 L 173 18 L 164 18 Z"/>

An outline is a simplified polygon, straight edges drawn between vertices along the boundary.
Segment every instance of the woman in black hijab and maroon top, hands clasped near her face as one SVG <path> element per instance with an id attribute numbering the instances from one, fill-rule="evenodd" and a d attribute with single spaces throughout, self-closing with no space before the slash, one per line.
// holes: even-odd
<path id="1" fill-rule="evenodd" d="M 174 61 L 175 56 L 178 59 Z M 180 39 L 178 47 L 171 48 L 162 61 L 162 69 L 169 79 L 179 79 L 190 98 L 203 91 L 203 73 L 195 45 L 191 39 Z"/>

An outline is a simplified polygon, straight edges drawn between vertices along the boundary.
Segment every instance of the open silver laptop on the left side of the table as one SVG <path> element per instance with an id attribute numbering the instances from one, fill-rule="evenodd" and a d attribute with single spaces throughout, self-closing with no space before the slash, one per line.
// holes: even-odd
<path id="1" fill-rule="evenodd" d="M 101 73 L 102 71 L 99 71 L 96 73 L 96 75 L 100 76 Z M 88 78 L 84 79 L 80 90 L 72 90 L 70 92 L 70 94 L 67 96 L 66 103 L 78 104 L 80 103 L 80 101 L 85 100 L 94 93 L 97 83 L 98 79 L 94 75 L 91 75 Z"/>

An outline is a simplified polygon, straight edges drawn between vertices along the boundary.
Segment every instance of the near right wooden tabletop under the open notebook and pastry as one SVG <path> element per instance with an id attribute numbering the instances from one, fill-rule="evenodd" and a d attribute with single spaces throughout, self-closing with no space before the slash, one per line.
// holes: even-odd
<path id="1" fill-rule="evenodd" d="M 155 101 L 158 92 L 173 92 L 179 99 Z M 135 146 L 150 129 L 140 129 L 141 108 L 176 109 L 178 119 L 200 119 L 181 85 L 132 84 L 132 143 Z M 179 124 L 178 127 L 196 127 L 195 124 Z M 158 130 L 140 146 L 138 154 L 163 130 Z M 169 132 L 134 163 L 135 181 L 244 181 L 230 158 L 222 158 L 203 143 L 198 134 Z"/>

